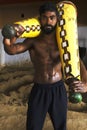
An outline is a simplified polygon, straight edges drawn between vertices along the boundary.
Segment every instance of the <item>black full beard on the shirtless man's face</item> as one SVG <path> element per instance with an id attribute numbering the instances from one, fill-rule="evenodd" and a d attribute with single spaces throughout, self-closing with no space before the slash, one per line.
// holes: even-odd
<path id="1" fill-rule="evenodd" d="M 52 25 L 44 25 L 44 26 L 41 26 L 41 30 L 45 33 L 45 34 L 51 34 L 53 31 L 55 31 L 55 28 L 56 28 L 57 24 L 55 26 L 52 26 Z"/>

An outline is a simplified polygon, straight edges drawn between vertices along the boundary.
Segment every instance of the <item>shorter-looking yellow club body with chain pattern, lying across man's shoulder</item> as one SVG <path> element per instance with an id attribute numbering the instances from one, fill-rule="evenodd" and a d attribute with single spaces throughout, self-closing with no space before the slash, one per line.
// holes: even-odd
<path id="1" fill-rule="evenodd" d="M 29 18 L 23 21 L 15 22 L 14 24 L 21 25 L 25 29 L 24 33 L 20 36 L 21 38 L 37 37 L 41 31 L 40 23 L 37 18 Z"/>

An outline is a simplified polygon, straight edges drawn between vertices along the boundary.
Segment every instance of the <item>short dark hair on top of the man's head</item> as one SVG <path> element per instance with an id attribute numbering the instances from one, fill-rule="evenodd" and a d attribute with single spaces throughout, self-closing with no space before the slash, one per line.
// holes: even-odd
<path id="1" fill-rule="evenodd" d="M 58 16 L 58 10 L 57 10 L 57 6 L 55 3 L 52 2 L 46 2 L 43 5 L 40 6 L 39 8 L 39 14 L 40 16 L 45 13 L 46 11 L 54 11 L 56 13 L 56 15 Z"/>

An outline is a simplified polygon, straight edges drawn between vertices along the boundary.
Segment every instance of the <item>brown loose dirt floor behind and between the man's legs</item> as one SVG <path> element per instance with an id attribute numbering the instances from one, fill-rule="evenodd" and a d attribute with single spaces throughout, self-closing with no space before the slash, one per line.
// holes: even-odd
<path id="1" fill-rule="evenodd" d="M 33 86 L 32 64 L 0 67 L 0 130 L 26 130 L 28 96 Z M 68 102 L 67 130 L 87 130 L 87 95 Z M 53 130 L 47 114 L 43 130 Z"/>

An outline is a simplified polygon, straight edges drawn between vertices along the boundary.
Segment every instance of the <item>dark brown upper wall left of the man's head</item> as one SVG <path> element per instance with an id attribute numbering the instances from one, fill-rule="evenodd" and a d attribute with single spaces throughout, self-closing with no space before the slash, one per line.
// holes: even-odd
<path id="1" fill-rule="evenodd" d="M 15 21 L 38 15 L 38 8 L 42 2 L 32 2 L 26 4 L 10 4 L 0 6 L 0 28 L 4 24 L 11 24 Z"/>

